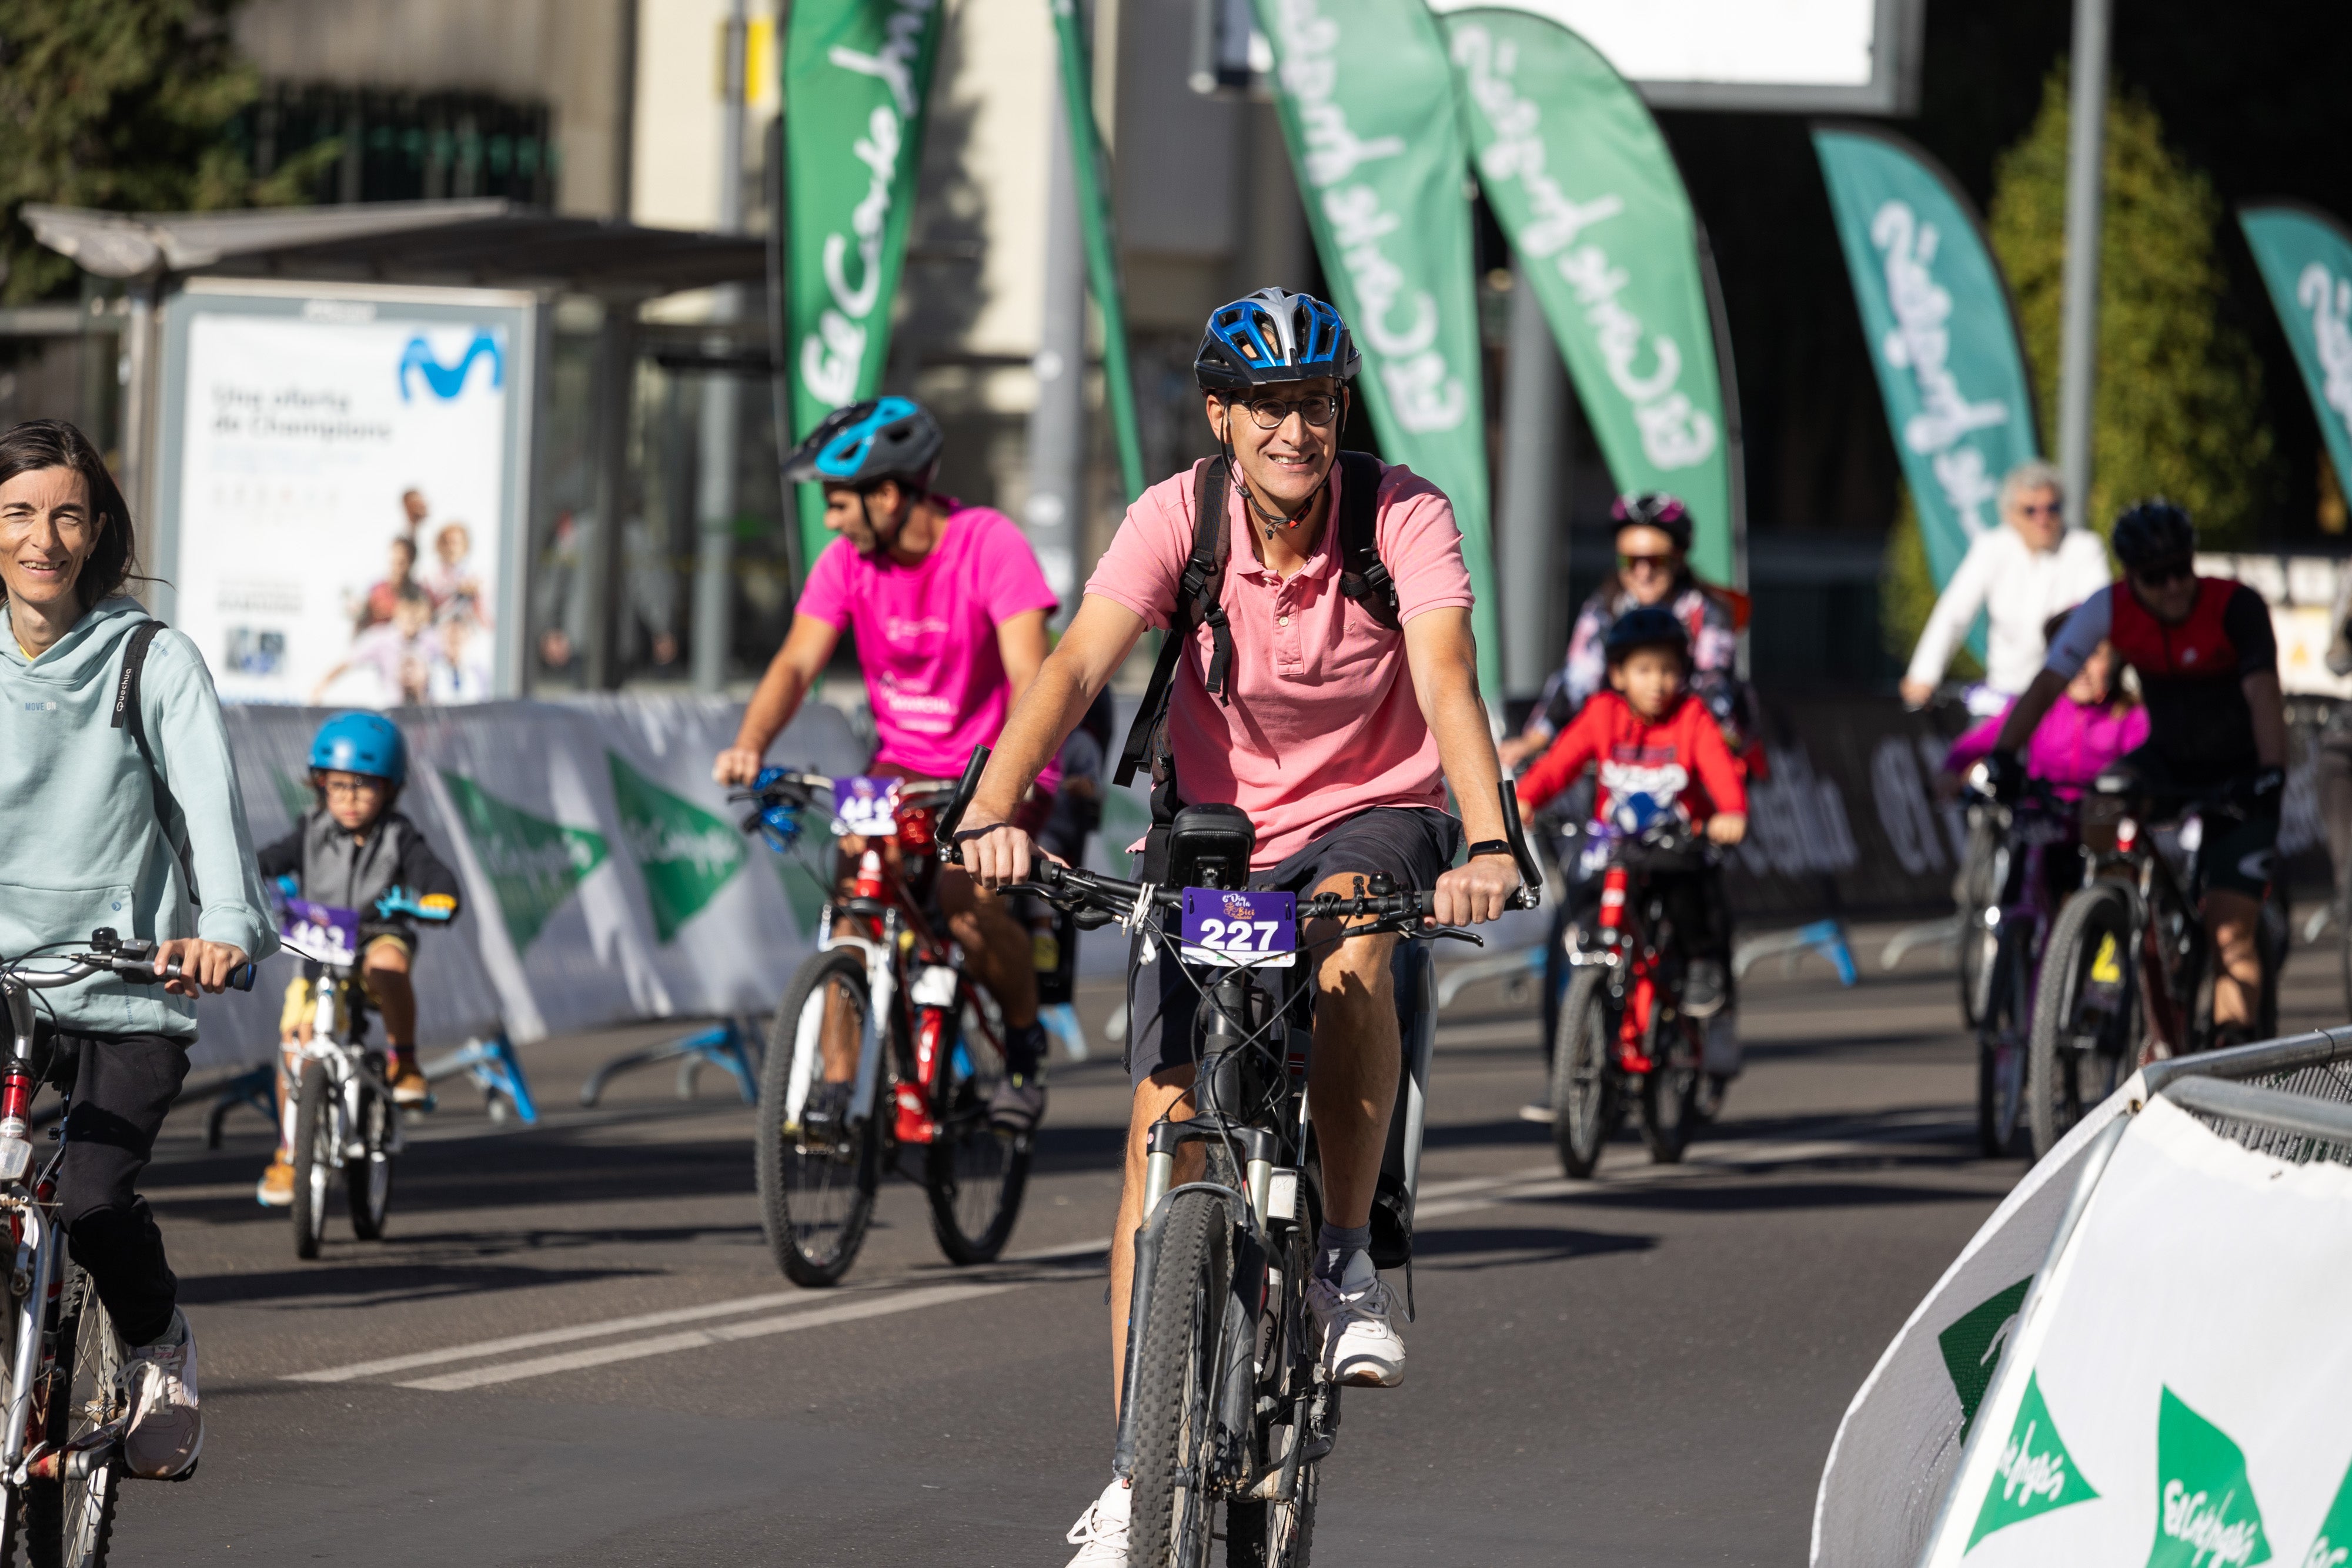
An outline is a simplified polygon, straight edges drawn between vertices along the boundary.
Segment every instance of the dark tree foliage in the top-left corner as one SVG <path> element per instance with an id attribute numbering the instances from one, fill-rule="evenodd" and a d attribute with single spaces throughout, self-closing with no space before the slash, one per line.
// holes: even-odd
<path id="1" fill-rule="evenodd" d="M 235 0 L 0 0 L 0 301 L 64 292 L 73 263 L 26 202 L 198 212 L 301 200 L 329 141 L 254 179 L 228 122 L 259 80 L 228 35 Z"/>

